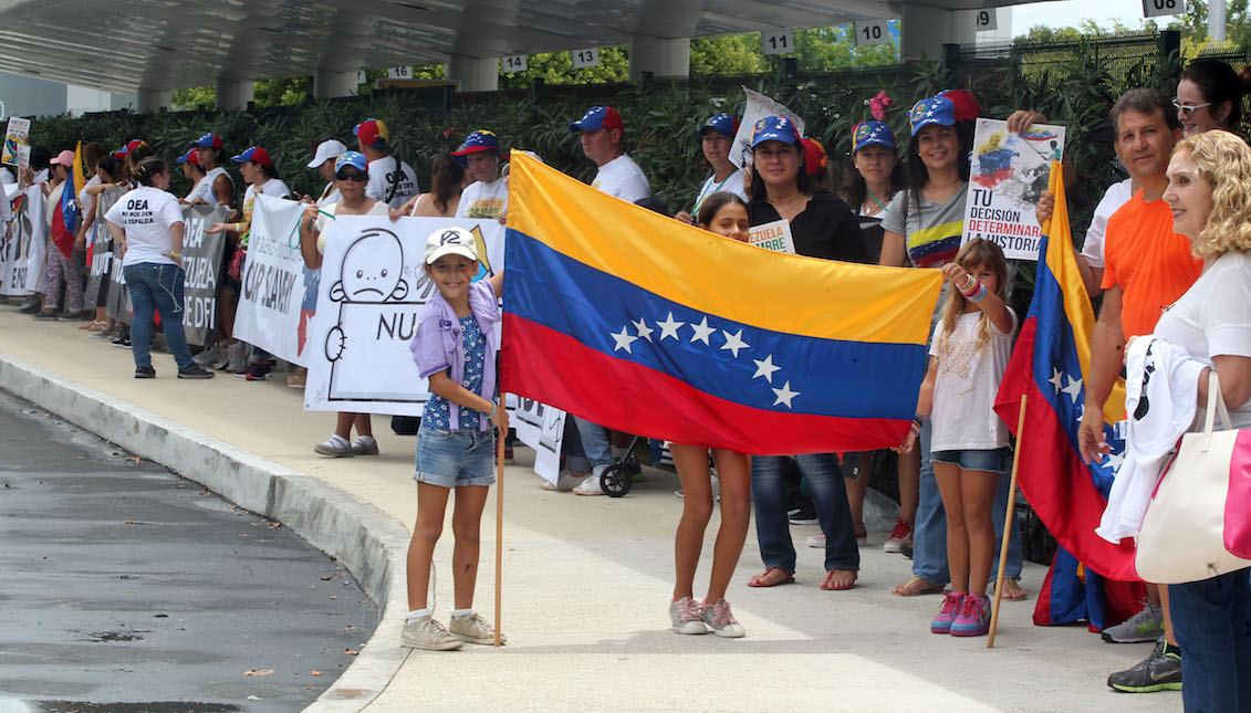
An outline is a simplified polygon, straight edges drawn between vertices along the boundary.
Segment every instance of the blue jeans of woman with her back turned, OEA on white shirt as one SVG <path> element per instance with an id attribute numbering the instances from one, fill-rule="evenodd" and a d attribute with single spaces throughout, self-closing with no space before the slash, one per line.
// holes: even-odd
<path id="1" fill-rule="evenodd" d="M 130 318 L 130 349 L 135 355 L 135 368 L 153 365 L 151 349 L 153 315 L 160 310 L 165 329 L 165 345 L 174 354 L 178 368 L 186 369 L 195 362 L 186 348 L 183 331 L 183 268 L 161 263 L 139 263 L 121 268 L 130 290 L 134 314 Z"/>

